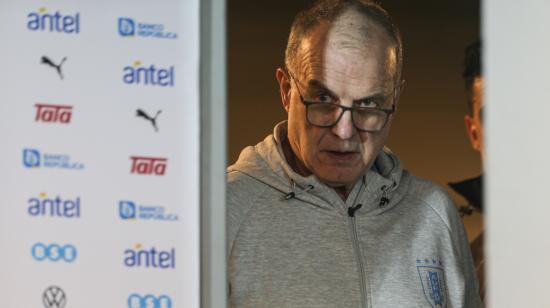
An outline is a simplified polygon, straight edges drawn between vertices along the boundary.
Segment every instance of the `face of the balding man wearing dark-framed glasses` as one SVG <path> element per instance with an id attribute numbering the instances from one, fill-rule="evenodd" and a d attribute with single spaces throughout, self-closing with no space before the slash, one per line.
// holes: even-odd
<path id="1" fill-rule="evenodd" d="M 284 88 L 289 94 L 286 100 L 283 95 L 283 104 L 297 171 L 313 173 L 329 186 L 345 190 L 353 187 L 375 160 L 388 137 L 391 116 L 377 133 L 358 131 L 347 111 L 335 126 L 320 128 L 308 124 L 299 93 L 306 101 L 331 101 L 349 107 L 373 97 L 387 98 L 378 100 L 380 108 L 390 109 L 397 103 L 395 49 L 383 30 L 371 28 L 371 37 L 366 40 L 353 30 L 319 26 L 302 43 L 299 65 L 291 72 L 295 80 L 278 73 L 281 92 Z M 290 88 L 284 87 L 285 82 Z"/>

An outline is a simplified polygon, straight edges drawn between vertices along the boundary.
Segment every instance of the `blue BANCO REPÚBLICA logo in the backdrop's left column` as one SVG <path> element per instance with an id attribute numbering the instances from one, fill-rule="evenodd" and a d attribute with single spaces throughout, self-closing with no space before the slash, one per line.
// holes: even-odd
<path id="1" fill-rule="evenodd" d="M 67 154 L 42 153 L 37 149 L 23 149 L 23 166 L 29 169 L 84 169 L 84 164 L 72 161 Z"/>

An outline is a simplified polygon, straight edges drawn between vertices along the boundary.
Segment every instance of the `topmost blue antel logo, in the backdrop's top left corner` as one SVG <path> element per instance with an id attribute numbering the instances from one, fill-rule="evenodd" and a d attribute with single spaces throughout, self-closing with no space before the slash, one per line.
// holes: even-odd
<path id="1" fill-rule="evenodd" d="M 60 11 L 48 12 L 41 7 L 37 12 L 27 15 L 27 28 L 31 31 L 49 31 L 69 34 L 80 33 L 80 13 L 62 14 Z"/>

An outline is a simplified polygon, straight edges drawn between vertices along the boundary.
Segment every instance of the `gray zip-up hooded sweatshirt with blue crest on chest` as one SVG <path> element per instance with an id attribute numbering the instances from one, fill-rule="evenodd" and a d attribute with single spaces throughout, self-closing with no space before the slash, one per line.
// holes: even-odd
<path id="1" fill-rule="evenodd" d="M 481 307 L 464 228 L 384 149 L 347 200 L 292 170 L 286 122 L 228 168 L 231 307 Z"/>

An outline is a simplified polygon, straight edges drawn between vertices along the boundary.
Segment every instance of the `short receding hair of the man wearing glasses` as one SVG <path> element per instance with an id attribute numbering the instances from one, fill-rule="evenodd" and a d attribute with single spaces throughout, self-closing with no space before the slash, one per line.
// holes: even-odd
<path id="1" fill-rule="evenodd" d="M 361 13 L 369 20 L 374 21 L 386 31 L 395 44 L 396 49 L 396 82 L 401 79 L 403 67 L 403 43 L 399 29 L 393 23 L 390 15 L 378 3 L 372 0 L 320 0 L 309 8 L 301 11 L 295 18 L 290 29 L 285 51 L 285 65 L 287 69 L 294 69 L 297 53 L 302 40 L 319 24 L 332 23 L 347 9 Z"/>

